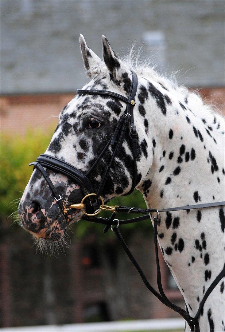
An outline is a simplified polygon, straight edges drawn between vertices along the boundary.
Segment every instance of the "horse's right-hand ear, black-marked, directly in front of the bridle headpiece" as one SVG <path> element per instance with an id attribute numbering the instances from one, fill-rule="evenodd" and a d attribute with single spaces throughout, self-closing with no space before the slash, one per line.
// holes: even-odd
<path id="1" fill-rule="evenodd" d="M 108 40 L 102 36 L 103 43 L 103 58 L 105 64 L 110 72 L 111 79 L 118 85 L 122 85 L 124 90 L 128 93 L 131 85 L 131 71 L 119 59 L 116 53 L 112 50 Z"/>

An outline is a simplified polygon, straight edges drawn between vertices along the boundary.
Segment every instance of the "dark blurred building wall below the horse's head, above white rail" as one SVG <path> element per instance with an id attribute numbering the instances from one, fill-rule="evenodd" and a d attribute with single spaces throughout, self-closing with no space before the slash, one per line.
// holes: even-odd
<path id="1" fill-rule="evenodd" d="M 12 245 L 13 243 L 13 245 Z M 157 288 L 154 243 L 136 232 L 129 247 Z M 159 250 L 167 296 L 184 307 L 183 297 Z M 19 229 L 1 243 L 1 327 L 123 319 L 178 317 L 146 290 L 116 239 L 72 239 L 68 253 L 43 257 L 30 234 Z"/>

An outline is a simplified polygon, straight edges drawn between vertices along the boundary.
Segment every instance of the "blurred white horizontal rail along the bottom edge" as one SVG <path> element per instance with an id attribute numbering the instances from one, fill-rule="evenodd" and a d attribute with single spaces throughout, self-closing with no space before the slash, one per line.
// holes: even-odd
<path id="1" fill-rule="evenodd" d="M 0 332 L 124 332 L 184 330 L 183 318 L 145 319 L 101 323 L 5 327 Z"/>

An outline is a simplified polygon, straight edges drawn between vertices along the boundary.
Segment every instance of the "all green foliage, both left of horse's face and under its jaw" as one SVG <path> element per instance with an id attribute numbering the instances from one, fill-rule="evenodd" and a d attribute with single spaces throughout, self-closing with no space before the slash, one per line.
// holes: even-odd
<path id="1" fill-rule="evenodd" d="M 1 219 L 6 219 L 18 205 L 15 200 L 22 196 L 22 193 L 29 181 L 32 173 L 32 167 L 29 167 L 29 162 L 35 161 L 40 153 L 44 153 L 53 130 L 49 129 L 45 132 L 41 129 L 28 130 L 25 135 L 1 135 L 1 186 L 0 186 L 0 216 Z M 146 207 L 142 194 L 135 191 L 132 195 L 126 197 L 115 198 L 110 202 L 110 205 L 126 205 L 131 207 Z M 101 216 L 109 215 L 108 212 L 102 212 Z M 134 216 L 134 214 L 121 213 L 119 219 L 127 219 Z M 142 221 L 140 223 L 133 223 L 126 225 L 126 234 L 129 235 L 134 229 L 141 229 L 144 233 L 149 234 L 151 227 L 150 221 Z M 101 237 L 103 235 L 103 226 L 93 224 L 87 221 L 80 221 L 74 226 L 76 237 L 83 237 L 87 234 L 95 232 Z M 109 232 L 112 233 L 112 232 Z M 105 237 L 105 236 L 104 236 Z"/>

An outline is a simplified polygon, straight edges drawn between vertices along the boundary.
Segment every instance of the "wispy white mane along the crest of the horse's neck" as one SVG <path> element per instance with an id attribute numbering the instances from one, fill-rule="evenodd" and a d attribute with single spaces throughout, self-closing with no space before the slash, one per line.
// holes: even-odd
<path id="1" fill-rule="evenodd" d="M 178 84 L 177 74 L 180 70 L 171 75 L 167 75 L 156 69 L 152 58 L 141 59 L 141 52 L 141 49 L 136 52 L 134 51 L 134 47 L 131 47 L 122 60 L 129 68 L 135 70 L 137 75 L 160 83 L 169 91 L 176 94 L 179 101 L 184 103 L 184 105 L 186 105 L 185 100 L 187 100 L 187 106 L 194 111 L 196 115 L 204 118 L 206 122 L 212 123 L 214 117 L 216 120 L 222 120 L 224 118 L 222 112 L 224 105 L 216 104 L 214 101 L 209 102 L 204 100 L 198 90 L 193 90 Z M 222 121 L 221 125 L 224 127 L 224 121 Z"/>

